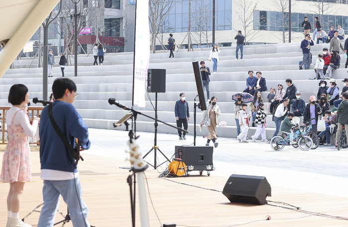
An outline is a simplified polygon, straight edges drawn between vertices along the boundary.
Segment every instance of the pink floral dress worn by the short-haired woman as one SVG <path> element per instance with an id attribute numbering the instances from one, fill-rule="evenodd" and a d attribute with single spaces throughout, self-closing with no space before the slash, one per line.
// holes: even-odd
<path id="1" fill-rule="evenodd" d="M 19 111 L 27 113 L 24 109 Z M 31 181 L 28 135 L 20 124 L 13 124 L 13 120 L 19 111 L 14 114 L 11 124 L 7 125 L 8 143 L 3 154 L 0 177 L 0 181 L 5 183 Z"/>

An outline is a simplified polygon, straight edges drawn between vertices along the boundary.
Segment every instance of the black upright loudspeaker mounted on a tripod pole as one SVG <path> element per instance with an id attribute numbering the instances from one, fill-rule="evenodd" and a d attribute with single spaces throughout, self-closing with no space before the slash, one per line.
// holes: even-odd
<path id="1" fill-rule="evenodd" d="M 148 69 L 147 88 L 149 93 L 166 93 L 166 70 Z"/>

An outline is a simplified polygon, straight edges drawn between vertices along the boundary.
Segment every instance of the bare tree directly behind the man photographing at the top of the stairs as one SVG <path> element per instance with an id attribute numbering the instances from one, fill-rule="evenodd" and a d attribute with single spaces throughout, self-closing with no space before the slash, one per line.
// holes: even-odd
<path id="1" fill-rule="evenodd" d="M 245 45 L 248 45 L 254 38 L 257 38 L 258 31 L 254 30 L 254 10 L 256 10 L 258 2 L 254 4 L 253 0 L 240 0 L 236 3 L 239 10 L 236 10 L 238 13 L 238 20 L 242 23 L 244 36 L 245 36 Z M 235 29 L 234 30 L 240 30 Z"/>

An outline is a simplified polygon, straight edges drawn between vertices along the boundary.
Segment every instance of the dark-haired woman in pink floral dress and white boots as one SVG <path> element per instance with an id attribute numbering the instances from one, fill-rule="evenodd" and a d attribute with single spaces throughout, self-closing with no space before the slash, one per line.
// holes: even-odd
<path id="1" fill-rule="evenodd" d="M 24 109 L 29 103 L 28 88 L 25 85 L 13 85 L 9 90 L 8 102 L 12 107 L 6 114 L 8 142 L 3 152 L 0 177 L 1 182 L 9 183 L 6 227 L 31 227 L 19 219 L 19 208 L 24 184 L 31 181 L 28 136 L 35 135 L 40 118 L 35 118 L 30 124 Z"/>

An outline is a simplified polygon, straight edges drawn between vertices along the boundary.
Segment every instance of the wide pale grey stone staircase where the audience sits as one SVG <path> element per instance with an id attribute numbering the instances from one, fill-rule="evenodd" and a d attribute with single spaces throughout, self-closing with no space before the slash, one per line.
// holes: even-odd
<path id="1" fill-rule="evenodd" d="M 222 112 L 219 121 L 227 122 L 227 126 L 218 126 L 218 136 L 236 137 L 237 135 L 234 101 L 231 98 L 232 95 L 242 92 L 246 88 L 249 70 L 253 70 L 254 75 L 256 75 L 256 71 L 261 71 L 262 76 L 266 78 L 268 91 L 262 92 L 264 100 L 266 100 L 271 87 L 276 88 L 281 83 L 286 89 L 285 80 L 287 78 L 293 80 L 293 84 L 301 92 L 302 99 L 306 103 L 308 103 L 310 96 L 317 95 L 319 81 L 309 79 L 315 77 L 314 64 L 318 54 L 322 53 L 324 47 L 329 47 L 329 44 L 315 44 L 311 47 L 313 61 L 310 70 L 298 69 L 298 62 L 302 60 L 299 46 L 300 43 L 245 46 L 244 58 L 240 60 L 235 60 L 235 47 L 220 48 L 217 73 L 211 74 L 209 84 L 210 97 L 217 97 L 217 105 Z M 203 51 L 195 49 L 193 52 L 179 50 L 174 53 L 174 59 L 169 59 L 169 53 L 164 53 L 164 51 L 158 51 L 150 56 L 149 68 L 167 70 L 166 93 L 158 93 L 158 118 L 176 125 L 174 105 L 175 101 L 179 100 L 179 93 L 184 92 L 190 109 L 189 135 L 193 134 L 193 100 L 197 95 L 191 62 L 205 61 L 212 70 L 213 63 L 208 61 L 210 49 L 205 48 Z M 65 76 L 77 84 L 79 96 L 74 102 L 74 106 L 84 118 L 85 123 L 92 128 L 111 129 L 113 128 L 112 123 L 122 118 L 127 111 L 109 105 L 108 99 L 115 98 L 116 101 L 127 107 L 132 105 L 133 53 L 109 53 L 104 59 L 102 66 L 93 66 L 92 55 L 88 57 L 87 55 L 79 55 L 78 77 L 74 77 L 74 67 L 67 67 Z M 34 60 L 32 66 L 28 68 L 31 62 L 32 59 L 15 61 L 15 68 L 6 71 L 0 80 L 0 105 L 9 105 L 7 103 L 8 91 L 16 83 L 25 84 L 28 87 L 30 100 L 34 97 L 42 99 L 42 68 L 33 68 L 33 66 L 37 67 L 37 60 Z M 56 62 L 59 62 L 59 56 L 56 57 Z M 346 59 L 342 54 L 341 68 L 333 72 L 333 78 L 337 80 L 340 91 L 343 87 L 341 81 L 348 78 L 347 70 L 344 68 L 345 63 Z M 48 78 L 48 96 L 51 94 L 53 81 L 58 77 L 61 77 L 61 70 L 59 67 L 54 67 L 53 78 Z M 155 94 L 149 93 L 148 95 L 145 95 L 146 108 L 134 106 L 134 109 L 154 117 Z M 202 111 L 197 109 L 196 129 L 199 136 L 208 134 L 205 127 L 201 132 L 199 130 L 201 118 Z M 271 118 L 272 116 L 268 115 L 266 119 L 268 139 L 271 138 L 275 127 Z M 125 126 L 122 125 L 116 129 L 124 130 Z M 255 132 L 256 127 L 250 129 L 249 135 Z M 139 115 L 137 130 L 154 132 L 154 121 Z M 177 133 L 176 129 L 163 123 L 159 123 L 158 132 Z"/>

